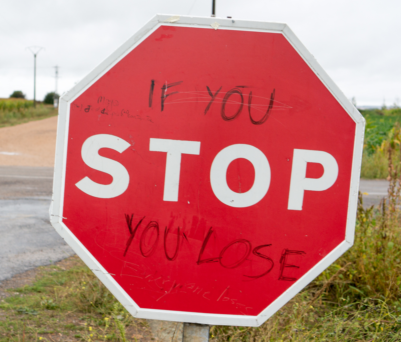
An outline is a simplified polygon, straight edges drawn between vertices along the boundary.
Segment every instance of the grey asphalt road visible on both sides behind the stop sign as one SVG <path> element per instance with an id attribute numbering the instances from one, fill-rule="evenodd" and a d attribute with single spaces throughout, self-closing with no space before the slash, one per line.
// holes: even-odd
<path id="1" fill-rule="evenodd" d="M 49 222 L 53 168 L 0 166 L 0 281 L 72 255 Z M 379 204 L 385 180 L 360 181 L 364 206 Z"/>

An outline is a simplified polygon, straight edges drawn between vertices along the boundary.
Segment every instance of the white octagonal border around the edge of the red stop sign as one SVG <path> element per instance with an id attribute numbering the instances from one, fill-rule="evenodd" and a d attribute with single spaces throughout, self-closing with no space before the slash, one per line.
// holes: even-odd
<path id="1" fill-rule="evenodd" d="M 124 42 L 124 44 L 117 48 L 117 50 L 115 50 L 109 57 L 107 57 L 103 62 L 89 72 L 89 74 L 85 76 L 78 84 L 76 84 L 70 91 L 61 96 L 59 101 L 59 120 L 57 124 L 53 197 L 49 209 L 50 221 L 56 231 L 63 237 L 63 239 L 65 239 L 65 241 L 73 248 L 83 262 L 87 264 L 87 266 L 95 273 L 99 280 L 105 284 L 110 292 L 117 298 L 117 300 L 119 300 L 119 302 L 122 303 L 122 305 L 124 305 L 124 307 L 128 310 L 128 312 L 130 312 L 130 314 L 132 314 L 132 316 L 138 318 L 193 322 L 209 325 L 260 326 L 291 298 L 298 294 L 302 288 L 308 285 L 314 278 L 316 278 L 321 272 L 330 266 L 332 262 L 339 258 L 342 253 L 352 246 L 354 242 L 360 165 L 362 160 L 363 138 L 365 133 L 365 119 L 340 91 L 336 84 L 330 79 L 323 68 L 318 64 L 316 59 L 295 36 L 287 24 L 282 22 L 262 22 L 253 20 L 196 16 L 179 16 L 179 20 L 174 23 L 166 21 L 171 17 L 172 15 L 166 14 L 157 14 L 154 16 L 140 30 L 138 30 L 136 34 Z M 65 223 L 63 223 L 63 219 L 68 219 L 63 217 L 63 198 L 67 159 L 69 110 L 71 103 L 161 25 L 214 29 L 211 24 L 214 24 L 215 22 L 219 23 L 219 30 L 249 30 L 283 34 L 356 123 L 346 235 L 344 241 L 342 241 L 318 264 L 304 274 L 302 278 L 290 286 L 288 290 L 286 290 L 281 296 L 279 296 L 274 302 L 265 308 L 265 310 L 263 310 L 258 316 L 205 314 L 140 308 L 114 280 L 114 278 L 107 273 L 103 266 L 101 266 L 101 264 L 93 257 L 93 255 L 91 255 L 91 253 L 75 237 L 75 235 L 71 233 Z"/>

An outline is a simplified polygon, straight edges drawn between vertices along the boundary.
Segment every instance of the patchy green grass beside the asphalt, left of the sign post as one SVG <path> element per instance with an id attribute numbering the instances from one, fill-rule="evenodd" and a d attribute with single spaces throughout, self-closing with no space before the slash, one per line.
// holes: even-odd
<path id="1" fill-rule="evenodd" d="M 125 341 L 149 336 L 79 260 L 40 269 L 36 282 L 0 302 L 0 341 Z M 148 339 L 150 340 L 150 338 Z"/>

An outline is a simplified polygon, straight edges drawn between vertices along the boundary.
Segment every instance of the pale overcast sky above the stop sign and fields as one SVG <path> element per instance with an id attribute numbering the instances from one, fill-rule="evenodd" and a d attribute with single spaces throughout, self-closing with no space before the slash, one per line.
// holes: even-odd
<path id="1" fill-rule="evenodd" d="M 218 17 L 286 22 L 358 106 L 401 98 L 401 1 L 216 0 Z M 210 16 L 211 0 L 2 0 L 0 97 L 22 90 L 36 99 L 71 88 L 154 14 Z"/>

